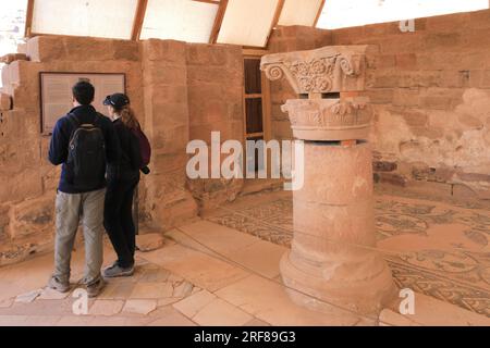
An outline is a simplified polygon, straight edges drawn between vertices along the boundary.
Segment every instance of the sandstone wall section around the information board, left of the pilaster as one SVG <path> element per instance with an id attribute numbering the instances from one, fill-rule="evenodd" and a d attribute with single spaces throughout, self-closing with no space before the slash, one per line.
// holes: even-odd
<path id="1" fill-rule="evenodd" d="M 138 45 L 84 38 L 35 38 L 30 61 L 2 70 L 0 122 L 0 264 L 52 248 L 60 167 L 48 162 L 50 137 L 40 134 L 39 72 L 124 72 L 133 107 L 143 113 Z M 9 96 L 9 97 L 8 97 Z"/>

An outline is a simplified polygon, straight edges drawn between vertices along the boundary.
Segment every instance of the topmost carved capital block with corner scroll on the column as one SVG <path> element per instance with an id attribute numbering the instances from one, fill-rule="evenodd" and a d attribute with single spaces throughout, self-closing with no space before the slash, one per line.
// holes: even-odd
<path id="1" fill-rule="evenodd" d="M 271 80 L 285 77 L 296 94 L 365 89 L 369 46 L 328 46 L 311 51 L 268 54 L 260 69 Z"/>

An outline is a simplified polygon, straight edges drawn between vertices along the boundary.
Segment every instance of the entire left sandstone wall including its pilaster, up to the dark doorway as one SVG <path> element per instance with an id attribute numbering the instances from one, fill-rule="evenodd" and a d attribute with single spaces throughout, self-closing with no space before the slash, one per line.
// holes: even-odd
<path id="1" fill-rule="evenodd" d="M 241 183 L 196 188 L 185 173 L 189 139 L 207 140 L 211 130 L 240 138 L 243 132 L 241 54 L 233 46 L 172 40 L 30 39 L 29 60 L 2 70 L 0 265 L 52 249 L 60 167 L 48 162 L 50 137 L 40 133 L 39 72 L 126 74 L 132 105 L 154 148 L 151 175 L 139 186 L 139 215 L 169 229 L 197 216 L 201 200 L 225 201 L 241 189 Z"/>

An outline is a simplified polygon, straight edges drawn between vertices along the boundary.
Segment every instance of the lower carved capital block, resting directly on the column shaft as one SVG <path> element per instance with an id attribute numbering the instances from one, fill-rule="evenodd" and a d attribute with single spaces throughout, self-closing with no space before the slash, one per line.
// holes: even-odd
<path id="1" fill-rule="evenodd" d="M 303 140 L 366 139 L 372 120 L 368 98 L 293 99 L 282 105 L 293 134 Z"/>

